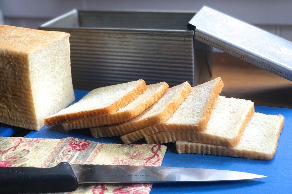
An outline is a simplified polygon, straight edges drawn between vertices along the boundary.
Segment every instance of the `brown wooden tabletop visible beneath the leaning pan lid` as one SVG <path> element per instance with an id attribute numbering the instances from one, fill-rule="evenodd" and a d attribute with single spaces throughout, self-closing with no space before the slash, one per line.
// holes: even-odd
<path id="1" fill-rule="evenodd" d="M 292 108 L 292 82 L 228 53 L 213 54 L 212 79 L 220 76 L 220 95 L 251 100 L 255 105 Z"/>

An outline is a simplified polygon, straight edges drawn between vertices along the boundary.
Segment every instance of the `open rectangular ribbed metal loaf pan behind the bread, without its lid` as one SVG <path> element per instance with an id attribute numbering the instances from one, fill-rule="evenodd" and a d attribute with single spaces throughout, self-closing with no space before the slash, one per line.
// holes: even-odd
<path id="1" fill-rule="evenodd" d="M 212 58 L 186 27 L 194 14 L 73 10 L 39 29 L 70 33 L 75 89 L 137 79 L 194 86 L 210 80 Z"/>

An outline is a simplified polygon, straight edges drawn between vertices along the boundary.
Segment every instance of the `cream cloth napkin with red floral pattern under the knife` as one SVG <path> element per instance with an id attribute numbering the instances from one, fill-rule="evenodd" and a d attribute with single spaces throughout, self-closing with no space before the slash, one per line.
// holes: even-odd
<path id="1" fill-rule="evenodd" d="M 160 166 L 166 146 L 104 144 L 72 137 L 40 139 L 0 137 L 0 167 L 53 167 L 71 164 Z M 71 193 L 148 194 L 152 184 L 81 184 Z"/>

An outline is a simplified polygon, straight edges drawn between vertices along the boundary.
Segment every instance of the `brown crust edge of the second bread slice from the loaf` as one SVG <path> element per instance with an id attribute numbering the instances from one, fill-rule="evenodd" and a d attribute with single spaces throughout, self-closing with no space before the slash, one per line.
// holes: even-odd
<path id="1" fill-rule="evenodd" d="M 110 125 L 120 123 L 141 114 L 145 109 L 154 104 L 167 90 L 169 85 L 166 82 L 161 82 L 161 86 L 151 96 L 145 99 L 140 104 L 137 104 L 133 109 L 125 111 L 117 111 L 111 114 L 102 114 L 96 117 L 87 118 L 84 120 L 63 123 L 65 130 L 90 128 L 101 125 Z M 148 86 L 149 87 L 149 86 Z M 147 89 L 146 89 L 147 90 Z"/>

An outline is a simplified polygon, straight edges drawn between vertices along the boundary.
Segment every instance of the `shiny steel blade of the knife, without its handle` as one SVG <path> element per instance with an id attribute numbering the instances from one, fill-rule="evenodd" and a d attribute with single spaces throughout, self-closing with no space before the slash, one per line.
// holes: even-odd
<path id="1" fill-rule="evenodd" d="M 202 168 L 71 165 L 79 183 L 235 181 L 266 176 Z"/>

